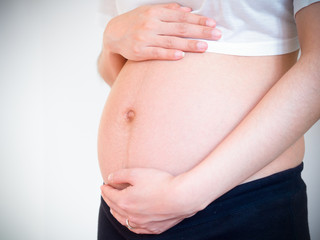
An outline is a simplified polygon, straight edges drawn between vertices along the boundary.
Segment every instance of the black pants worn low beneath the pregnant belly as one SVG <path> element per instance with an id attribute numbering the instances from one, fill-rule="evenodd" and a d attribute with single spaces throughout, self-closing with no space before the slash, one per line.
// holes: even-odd
<path id="1" fill-rule="evenodd" d="M 160 235 L 130 232 L 101 198 L 99 240 L 308 240 L 306 185 L 298 167 L 239 185 Z"/>

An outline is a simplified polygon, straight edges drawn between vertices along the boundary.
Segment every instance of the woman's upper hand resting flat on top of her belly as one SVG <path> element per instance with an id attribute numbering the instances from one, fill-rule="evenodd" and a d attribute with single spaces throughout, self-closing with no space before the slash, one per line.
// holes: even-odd
<path id="1" fill-rule="evenodd" d="M 213 19 L 176 3 L 141 6 L 108 23 L 103 45 L 129 60 L 178 60 L 184 52 L 204 52 L 208 47 L 186 38 L 218 40 L 221 32 L 215 26 Z"/>

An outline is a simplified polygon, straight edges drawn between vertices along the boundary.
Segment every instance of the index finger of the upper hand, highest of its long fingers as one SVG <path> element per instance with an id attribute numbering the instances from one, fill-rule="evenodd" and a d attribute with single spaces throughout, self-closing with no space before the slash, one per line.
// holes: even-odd
<path id="1" fill-rule="evenodd" d="M 164 22 L 191 23 L 212 28 L 216 26 L 216 21 L 212 18 L 190 13 L 188 11 L 163 8 L 159 10 L 159 17 L 160 20 Z"/>

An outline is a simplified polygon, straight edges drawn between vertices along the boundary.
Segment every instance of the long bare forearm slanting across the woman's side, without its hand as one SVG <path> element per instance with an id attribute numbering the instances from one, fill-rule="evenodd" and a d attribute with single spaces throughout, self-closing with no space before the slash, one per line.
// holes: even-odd
<path id="1" fill-rule="evenodd" d="M 182 185 L 197 192 L 201 208 L 271 163 L 320 117 L 316 55 L 302 57 Z"/>

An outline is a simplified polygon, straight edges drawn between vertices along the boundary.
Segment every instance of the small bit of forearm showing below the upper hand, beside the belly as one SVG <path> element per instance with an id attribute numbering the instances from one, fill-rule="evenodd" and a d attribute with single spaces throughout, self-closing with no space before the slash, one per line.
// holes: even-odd
<path id="1" fill-rule="evenodd" d="M 127 59 L 120 54 L 112 53 L 104 48 L 98 59 L 98 71 L 103 80 L 111 87 Z"/>

